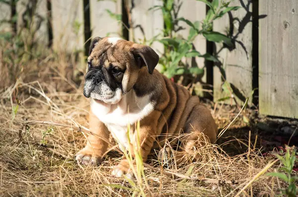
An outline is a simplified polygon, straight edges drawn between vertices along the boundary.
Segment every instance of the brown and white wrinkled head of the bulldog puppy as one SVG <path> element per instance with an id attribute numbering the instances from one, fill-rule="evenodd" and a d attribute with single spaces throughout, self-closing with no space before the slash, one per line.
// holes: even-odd
<path id="1" fill-rule="evenodd" d="M 148 46 L 119 38 L 96 37 L 89 49 L 84 96 L 116 104 L 134 87 L 140 70 L 147 69 L 152 74 L 158 60 Z"/>

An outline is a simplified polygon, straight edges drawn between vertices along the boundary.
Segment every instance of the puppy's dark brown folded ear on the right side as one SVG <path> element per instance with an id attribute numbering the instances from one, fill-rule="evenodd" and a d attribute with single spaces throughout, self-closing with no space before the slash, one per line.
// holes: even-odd
<path id="1" fill-rule="evenodd" d="M 155 51 L 149 46 L 134 44 L 131 52 L 134 55 L 137 65 L 140 67 L 147 66 L 149 73 L 152 74 L 159 61 L 159 57 Z"/>

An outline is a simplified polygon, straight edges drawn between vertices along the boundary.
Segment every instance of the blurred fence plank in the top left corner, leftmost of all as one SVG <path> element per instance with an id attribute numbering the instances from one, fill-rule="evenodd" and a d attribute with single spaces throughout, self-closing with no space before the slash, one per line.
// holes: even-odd
<path id="1" fill-rule="evenodd" d="M 11 8 L 8 3 L 0 2 L 0 32 L 11 31 Z"/>

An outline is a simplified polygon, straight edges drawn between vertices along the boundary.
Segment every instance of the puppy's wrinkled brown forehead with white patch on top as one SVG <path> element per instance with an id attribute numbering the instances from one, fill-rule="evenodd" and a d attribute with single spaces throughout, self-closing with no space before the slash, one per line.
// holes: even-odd
<path id="1" fill-rule="evenodd" d="M 94 44 L 94 48 L 88 57 L 88 62 L 92 66 L 99 66 L 100 63 L 123 62 L 130 58 L 129 52 L 132 42 L 117 37 L 105 37 L 98 43 Z"/>

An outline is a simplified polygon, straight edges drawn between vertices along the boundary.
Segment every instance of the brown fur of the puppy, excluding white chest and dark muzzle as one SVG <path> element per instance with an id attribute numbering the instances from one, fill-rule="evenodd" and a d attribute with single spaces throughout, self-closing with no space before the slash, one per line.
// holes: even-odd
<path id="1" fill-rule="evenodd" d="M 154 110 L 140 121 L 141 154 L 144 161 L 147 160 L 152 149 L 163 147 L 166 140 L 169 140 L 171 145 L 177 144 L 178 138 L 172 140 L 171 137 L 182 133 L 188 135 L 182 139 L 181 151 L 192 149 L 201 133 L 208 136 L 212 143 L 215 142 L 217 125 L 210 110 L 200 105 L 199 98 L 191 96 L 183 86 L 172 82 L 156 69 L 152 69 L 152 65 L 154 68 L 157 64 L 157 55 L 155 56 L 149 47 L 125 40 L 117 41 L 115 46 L 112 46 L 107 38 L 102 39 L 99 44 L 90 49 L 88 61 L 93 66 L 106 66 L 107 70 L 113 66 L 125 70 L 122 78 L 123 92 L 133 89 L 138 96 L 152 93 L 150 100 L 155 103 Z M 138 65 L 136 54 L 143 59 L 144 65 Z M 151 74 L 150 71 L 152 71 Z M 121 79 L 115 78 L 115 80 Z M 91 132 L 108 139 L 107 127 L 92 112 L 90 112 L 89 125 Z M 135 125 L 131 128 L 134 130 Z M 131 146 L 136 146 L 136 143 L 134 134 Z M 100 163 L 101 156 L 107 151 L 107 146 L 108 144 L 101 138 L 89 135 L 86 146 L 78 153 L 85 155 L 80 158 L 82 163 Z M 127 172 L 127 161 L 123 159 L 118 168 Z"/>

